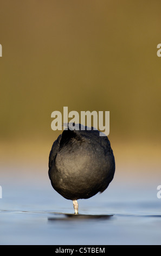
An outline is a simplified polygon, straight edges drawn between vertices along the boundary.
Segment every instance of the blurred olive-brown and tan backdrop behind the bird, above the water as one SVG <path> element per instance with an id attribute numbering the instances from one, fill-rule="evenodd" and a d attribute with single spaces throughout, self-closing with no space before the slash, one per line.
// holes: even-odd
<path id="1" fill-rule="evenodd" d="M 34 161 L 47 172 L 60 133 L 51 130 L 51 112 L 68 106 L 110 111 L 120 172 L 134 164 L 160 172 L 161 2 L 0 5 L 1 162 Z"/>

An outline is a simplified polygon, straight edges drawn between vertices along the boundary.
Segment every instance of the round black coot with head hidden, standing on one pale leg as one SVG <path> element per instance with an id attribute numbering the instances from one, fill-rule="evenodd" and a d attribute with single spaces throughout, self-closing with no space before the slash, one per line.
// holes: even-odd
<path id="1" fill-rule="evenodd" d="M 49 155 L 49 178 L 61 196 L 87 199 L 106 190 L 113 179 L 115 161 L 107 136 L 98 130 L 64 130 L 53 143 Z"/>

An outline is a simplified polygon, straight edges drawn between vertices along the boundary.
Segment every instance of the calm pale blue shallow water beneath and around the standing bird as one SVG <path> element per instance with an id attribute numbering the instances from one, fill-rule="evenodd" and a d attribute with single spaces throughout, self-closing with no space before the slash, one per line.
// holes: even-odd
<path id="1" fill-rule="evenodd" d="M 53 190 L 48 175 L 3 176 L 0 244 L 160 245 L 158 178 L 120 180 L 102 194 L 78 200 L 77 216 L 72 201 Z"/>

